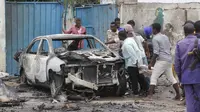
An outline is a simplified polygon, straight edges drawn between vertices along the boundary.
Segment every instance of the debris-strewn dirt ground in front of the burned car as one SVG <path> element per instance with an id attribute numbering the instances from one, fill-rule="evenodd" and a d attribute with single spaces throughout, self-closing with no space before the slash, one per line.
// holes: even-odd
<path id="1" fill-rule="evenodd" d="M 25 99 L 20 106 L 0 107 L 0 112 L 185 112 L 180 101 L 173 101 L 174 91 L 165 77 L 159 79 L 153 101 L 141 97 L 97 97 L 92 101 L 66 101 L 66 95 L 56 100 L 48 89 L 19 85 L 16 80 L 4 81 L 15 88 L 18 98 Z"/>

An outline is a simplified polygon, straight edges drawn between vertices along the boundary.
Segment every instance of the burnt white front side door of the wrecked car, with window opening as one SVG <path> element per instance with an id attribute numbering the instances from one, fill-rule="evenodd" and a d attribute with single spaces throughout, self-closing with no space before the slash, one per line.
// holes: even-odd
<path id="1" fill-rule="evenodd" d="M 36 56 L 37 69 L 35 74 L 35 81 L 37 83 L 46 83 L 47 82 L 47 61 L 50 58 L 50 46 L 47 39 L 41 40 L 41 45 L 39 47 L 38 54 Z"/>

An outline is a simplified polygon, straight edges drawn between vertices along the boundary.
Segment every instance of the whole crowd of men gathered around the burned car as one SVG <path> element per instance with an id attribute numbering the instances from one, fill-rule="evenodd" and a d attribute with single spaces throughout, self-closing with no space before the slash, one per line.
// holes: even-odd
<path id="1" fill-rule="evenodd" d="M 107 31 L 105 44 L 114 52 L 118 52 L 125 60 L 125 68 L 129 74 L 133 95 L 145 96 L 152 100 L 157 80 L 165 75 L 173 84 L 176 92 L 174 100 L 180 100 L 180 87 L 186 95 L 188 112 L 200 112 L 200 21 L 186 21 L 183 25 L 185 38 L 176 45 L 175 62 L 172 62 L 171 43 L 169 37 L 161 32 L 161 25 L 153 23 L 142 30 L 135 31 L 135 22 L 130 20 L 120 27 L 120 19 L 116 18 Z M 81 20 L 76 19 L 76 25 L 67 34 L 86 34 L 81 26 Z M 152 42 L 149 45 L 148 43 Z M 152 47 L 152 48 L 151 48 Z M 139 73 L 142 65 L 152 69 L 150 83 L 148 78 Z M 172 65 L 179 81 L 174 77 Z M 138 88 L 140 85 L 140 90 Z M 148 86 L 150 85 L 150 86 Z"/>

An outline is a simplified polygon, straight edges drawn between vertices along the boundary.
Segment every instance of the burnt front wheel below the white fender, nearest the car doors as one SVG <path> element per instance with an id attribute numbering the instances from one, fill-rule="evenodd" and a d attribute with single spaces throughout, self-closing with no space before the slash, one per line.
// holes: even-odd
<path id="1" fill-rule="evenodd" d="M 62 77 L 61 75 L 57 75 L 57 74 L 52 74 L 50 75 L 50 91 L 51 91 L 51 96 L 52 97 L 56 97 L 64 84 L 64 77 Z"/>

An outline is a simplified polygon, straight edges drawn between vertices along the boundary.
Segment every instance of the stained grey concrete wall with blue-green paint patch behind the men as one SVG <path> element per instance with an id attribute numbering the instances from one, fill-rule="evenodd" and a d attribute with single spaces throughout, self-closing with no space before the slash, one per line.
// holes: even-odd
<path id="1" fill-rule="evenodd" d="M 173 45 L 172 53 L 174 54 L 176 42 L 184 38 L 182 25 L 185 21 L 200 20 L 200 5 L 198 3 L 161 4 L 124 2 L 119 4 L 119 15 L 122 25 L 128 20 L 133 19 L 136 22 L 135 31 L 154 22 L 163 24 L 163 30 L 165 30 L 166 24 L 170 23 L 174 27 L 173 31 L 168 32 Z"/>

